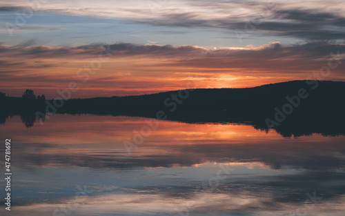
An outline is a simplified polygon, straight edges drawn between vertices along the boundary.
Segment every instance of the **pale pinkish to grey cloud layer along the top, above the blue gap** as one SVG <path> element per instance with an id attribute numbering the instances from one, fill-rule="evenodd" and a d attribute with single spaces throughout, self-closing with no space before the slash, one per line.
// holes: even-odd
<path id="1" fill-rule="evenodd" d="M 266 1 L 169 1 L 151 12 L 146 2 L 133 4 L 84 3 L 83 6 L 60 1 L 42 5 L 37 12 L 69 14 L 101 19 L 119 19 L 125 23 L 142 23 L 150 26 L 198 28 L 234 34 L 234 30 L 246 31 L 253 20 L 253 37 L 289 37 L 303 40 L 334 40 L 345 37 L 344 3 L 331 1 L 288 1 L 268 4 Z M 21 3 L 7 3 L 0 11 L 22 10 Z M 104 5 L 104 6 L 103 6 Z M 72 9 L 71 9 L 72 8 Z M 336 9 L 336 10 L 335 10 Z M 336 12 L 334 12 L 336 11 Z"/>

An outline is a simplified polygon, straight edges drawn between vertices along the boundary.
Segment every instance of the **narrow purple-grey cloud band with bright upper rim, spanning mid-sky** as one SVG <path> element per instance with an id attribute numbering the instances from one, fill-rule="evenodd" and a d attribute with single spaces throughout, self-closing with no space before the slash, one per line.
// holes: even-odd
<path id="1" fill-rule="evenodd" d="M 263 46 L 232 47 L 208 49 L 200 46 L 170 46 L 158 44 L 135 44 L 135 43 L 92 43 L 84 46 L 6 46 L 0 45 L 0 53 L 17 55 L 28 58 L 93 58 L 98 57 L 100 52 L 110 52 L 114 57 L 148 56 L 148 57 L 327 57 L 330 52 L 345 52 L 345 44 L 313 42 L 284 46 L 274 42 Z"/>

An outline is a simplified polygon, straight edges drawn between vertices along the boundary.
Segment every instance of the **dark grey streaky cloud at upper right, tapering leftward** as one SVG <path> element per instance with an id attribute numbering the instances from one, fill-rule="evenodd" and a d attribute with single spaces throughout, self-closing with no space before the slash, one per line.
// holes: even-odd
<path id="1" fill-rule="evenodd" d="M 165 14 L 162 19 L 144 19 L 137 22 L 152 26 L 236 30 L 253 36 L 293 37 L 308 41 L 345 38 L 345 18 L 338 14 L 278 8 L 265 11 L 263 8 L 262 12 L 249 15 L 248 21 L 233 16 L 226 19 L 203 19 L 186 12 Z M 270 21 L 266 18 L 270 18 Z"/>

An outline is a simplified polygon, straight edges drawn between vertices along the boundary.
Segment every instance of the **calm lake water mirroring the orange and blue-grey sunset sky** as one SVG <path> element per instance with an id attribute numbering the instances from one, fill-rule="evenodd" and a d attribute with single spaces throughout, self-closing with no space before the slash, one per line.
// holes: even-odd
<path id="1" fill-rule="evenodd" d="M 345 137 L 149 121 L 54 115 L 26 128 L 8 119 L 0 130 L 12 139 L 10 215 L 345 213 Z"/>

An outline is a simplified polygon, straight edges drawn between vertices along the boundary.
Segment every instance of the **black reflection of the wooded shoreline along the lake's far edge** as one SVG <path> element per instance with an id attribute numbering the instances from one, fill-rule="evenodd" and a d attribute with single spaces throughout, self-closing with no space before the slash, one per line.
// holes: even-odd
<path id="1" fill-rule="evenodd" d="M 34 124 L 43 125 L 46 117 L 50 119 L 51 113 L 47 114 L 46 112 L 36 112 L 34 110 L 21 110 L 21 112 L 0 112 L 0 124 L 6 124 L 6 119 L 12 118 L 14 115 L 19 115 L 23 124 L 30 128 Z M 48 115 L 48 116 L 47 116 Z M 87 115 L 83 113 L 73 114 L 73 115 Z M 185 114 L 186 115 L 186 114 Z M 110 116 L 110 114 L 109 114 Z M 119 113 L 113 114 L 114 117 L 121 116 L 136 116 L 136 117 L 150 117 L 155 118 L 155 115 L 133 115 L 131 113 L 127 115 L 121 115 Z M 260 119 L 260 117 L 257 117 Z M 264 117 L 262 117 L 264 119 Z M 261 119 L 261 120 L 262 120 Z M 261 120 L 255 121 L 244 121 L 242 119 L 234 119 L 233 117 L 227 117 L 219 113 L 217 116 L 213 115 L 195 115 L 187 113 L 186 116 L 169 116 L 168 120 L 170 121 L 179 121 L 182 123 L 188 124 L 246 124 L 253 126 L 258 130 L 268 132 L 272 130 L 268 128 L 266 123 Z M 279 135 L 282 137 L 303 137 L 303 136 L 312 136 L 314 134 L 319 134 L 323 136 L 335 137 L 339 135 L 345 135 L 345 125 L 342 118 L 326 118 L 325 119 L 315 119 L 314 117 L 309 119 L 296 119 L 291 118 L 287 121 L 284 121 L 284 124 L 279 125 L 278 127 L 273 128 Z"/>

